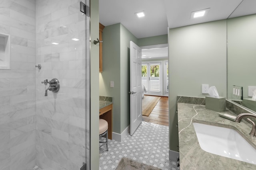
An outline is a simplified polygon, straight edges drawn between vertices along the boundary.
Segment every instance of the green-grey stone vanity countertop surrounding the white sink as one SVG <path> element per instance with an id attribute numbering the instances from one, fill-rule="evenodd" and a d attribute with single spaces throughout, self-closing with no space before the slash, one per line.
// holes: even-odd
<path id="1" fill-rule="evenodd" d="M 229 110 L 225 113 L 234 114 Z M 252 125 L 220 117 L 219 112 L 205 109 L 204 105 L 178 103 L 178 129 L 181 170 L 256 170 L 256 165 L 211 154 L 201 149 L 193 122 L 232 128 L 256 148 L 256 137 L 249 135 Z M 240 132 L 239 132 L 240 131 Z"/>

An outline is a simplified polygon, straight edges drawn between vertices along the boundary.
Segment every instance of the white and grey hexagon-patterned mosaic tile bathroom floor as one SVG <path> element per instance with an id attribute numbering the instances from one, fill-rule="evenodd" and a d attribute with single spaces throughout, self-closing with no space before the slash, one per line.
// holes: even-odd
<path id="1" fill-rule="evenodd" d="M 100 170 L 114 170 L 123 156 L 162 170 L 178 170 L 169 160 L 168 132 L 168 126 L 142 121 L 134 135 L 123 142 L 109 140 L 109 151 L 105 145 L 100 148 Z"/>

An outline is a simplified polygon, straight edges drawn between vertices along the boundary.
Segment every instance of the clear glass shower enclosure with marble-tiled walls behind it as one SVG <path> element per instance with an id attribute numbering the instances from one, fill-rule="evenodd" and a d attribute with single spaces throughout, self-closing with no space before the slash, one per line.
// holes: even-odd
<path id="1" fill-rule="evenodd" d="M 0 170 L 89 166 L 90 12 L 82 2 L 86 14 L 78 0 L 1 0 Z"/>

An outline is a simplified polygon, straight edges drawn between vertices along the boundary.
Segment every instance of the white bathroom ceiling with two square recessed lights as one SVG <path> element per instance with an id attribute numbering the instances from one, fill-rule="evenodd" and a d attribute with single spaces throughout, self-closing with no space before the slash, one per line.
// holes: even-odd
<path id="1" fill-rule="evenodd" d="M 206 16 L 190 19 L 191 12 L 206 8 Z M 99 0 L 99 10 L 103 25 L 122 23 L 135 37 L 144 38 L 167 34 L 168 27 L 255 14 L 256 0 Z M 146 16 L 137 18 L 134 13 L 140 11 Z"/>

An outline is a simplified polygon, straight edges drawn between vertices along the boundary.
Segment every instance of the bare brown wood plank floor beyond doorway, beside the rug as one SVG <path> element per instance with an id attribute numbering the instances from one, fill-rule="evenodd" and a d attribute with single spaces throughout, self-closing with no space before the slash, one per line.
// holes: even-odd
<path id="1" fill-rule="evenodd" d="M 149 116 L 142 115 L 142 121 L 169 126 L 168 97 L 162 97 Z"/>

